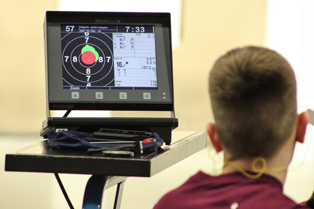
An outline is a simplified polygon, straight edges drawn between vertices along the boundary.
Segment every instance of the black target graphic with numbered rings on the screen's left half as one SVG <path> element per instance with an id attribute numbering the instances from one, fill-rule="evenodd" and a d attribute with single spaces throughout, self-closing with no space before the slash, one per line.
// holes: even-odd
<path id="1" fill-rule="evenodd" d="M 64 88 L 114 86 L 112 34 L 70 32 L 61 44 Z"/>

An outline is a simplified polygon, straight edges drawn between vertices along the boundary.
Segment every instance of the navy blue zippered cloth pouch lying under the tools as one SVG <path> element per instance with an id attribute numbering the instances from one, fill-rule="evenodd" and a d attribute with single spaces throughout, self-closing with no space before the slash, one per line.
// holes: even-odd
<path id="1" fill-rule="evenodd" d="M 92 133 L 80 133 L 76 131 L 59 131 L 50 129 L 46 133 L 48 137 L 48 144 L 54 149 L 82 149 L 87 150 L 89 148 L 106 148 L 107 144 L 90 143 L 93 139 Z M 155 142 L 143 143 L 143 152 L 155 152 L 164 141 L 160 138 L 158 133 L 154 133 Z"/>

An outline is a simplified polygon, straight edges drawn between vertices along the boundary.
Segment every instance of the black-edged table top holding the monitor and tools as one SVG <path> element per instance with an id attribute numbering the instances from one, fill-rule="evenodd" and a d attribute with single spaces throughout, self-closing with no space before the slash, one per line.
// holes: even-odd
<path id="1" fill-rule="evenodd" d="M 52 149 L 47 140 L 6 154 L 6 171 L 149 177 L 206 147 L 204 132 L 173 131 L 163 150 L 134 157 L 89 155 L 85 150 Z"/>

